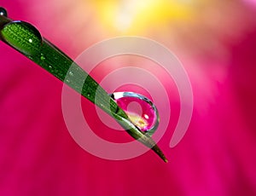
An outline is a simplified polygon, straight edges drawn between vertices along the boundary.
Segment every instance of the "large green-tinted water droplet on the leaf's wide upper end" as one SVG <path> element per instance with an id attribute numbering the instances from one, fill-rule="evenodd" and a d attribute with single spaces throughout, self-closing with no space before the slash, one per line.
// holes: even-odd
<path id="1" fill-rule="evenodd" d="M 37 55 L 43 42 L 40 32 L 23 21 L 9 22 L 1 31 L 3 39 L 25 55 Z"/>

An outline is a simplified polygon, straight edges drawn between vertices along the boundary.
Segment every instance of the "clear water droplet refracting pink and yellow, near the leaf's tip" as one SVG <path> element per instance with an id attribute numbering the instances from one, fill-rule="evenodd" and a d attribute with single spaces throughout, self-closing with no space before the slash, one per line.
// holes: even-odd
<path id="1" fill-rule="evenodd" d="M 154 103 L 147 97 L 133 92 L 115 92 L 111 95 L 131 122 L 140 130 L 153 135 L 159 124 L 159 113 Z"/>

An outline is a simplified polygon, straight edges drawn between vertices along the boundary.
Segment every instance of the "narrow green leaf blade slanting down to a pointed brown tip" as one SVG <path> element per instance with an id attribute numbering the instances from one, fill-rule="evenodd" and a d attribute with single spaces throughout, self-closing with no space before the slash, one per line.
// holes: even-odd
<path id="1" fill-rule="evenodd" d="M 42 37 L 34 26 L 20 20 L 13 21 L 0 15 L 0 32 L 0 38 L 4 43 L 8 43 L 21 54 L 43 67 L 44 70 L 50 72 L 55 78 L 60 79 L 96 106 L 102 108 L 103 111 L 115 118 L 129 135 L 145 146 L 152 148 L 161 159 L 167 162 L 165 155 L 154 140 L 132 124 L 126 113 L 118 107 L 108 93 L 60 49 Z M 70 77 L 67 78 L 68 74 Z M 84 84 L 82 88 L 79 85 L 81 83 Z"/>

